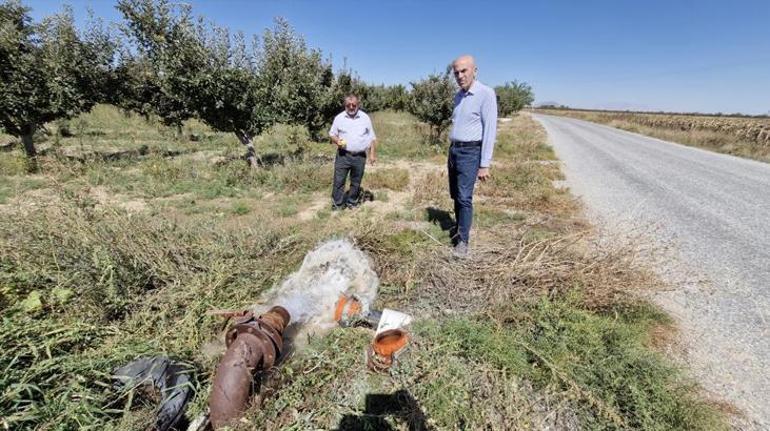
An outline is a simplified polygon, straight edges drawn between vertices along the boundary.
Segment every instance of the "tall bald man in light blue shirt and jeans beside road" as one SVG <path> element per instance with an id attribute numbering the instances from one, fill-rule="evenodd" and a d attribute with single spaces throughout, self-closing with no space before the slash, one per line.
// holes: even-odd
<path id="1" fill-rule="evenodd" d="M 452 63 L 460 91 L 455 94 L 452 113 L 451 145 L 447 167 L 449 194 L 454 200 L 456 233 L 453 253 L 468 257 L 471 222 L 473 221 L 473 188 L 476 179 L 489 178 L 489 165 L 497 134 L 497 97 L 495 91 L 476 80 L 476 62 L 470 55 Z"/>

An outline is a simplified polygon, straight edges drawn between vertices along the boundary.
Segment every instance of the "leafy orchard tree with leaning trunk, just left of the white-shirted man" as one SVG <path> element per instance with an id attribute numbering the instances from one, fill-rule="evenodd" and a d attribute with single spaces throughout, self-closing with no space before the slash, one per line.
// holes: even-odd
<path id="1" fill-rule="evenodd" d="M 250 47 L 242 34 L 215 29 L 206 51 L 209 64 L 196 80 L 193 106 L 213 129 L 238 137 L 250 166 L 257 165 L 254 137 L 273 124 L 316 132 L 327 120 L 322 113 L 333 82 L 331 65 L 286 21 L 277 19 L 261 44 L 255 40 Z"/>

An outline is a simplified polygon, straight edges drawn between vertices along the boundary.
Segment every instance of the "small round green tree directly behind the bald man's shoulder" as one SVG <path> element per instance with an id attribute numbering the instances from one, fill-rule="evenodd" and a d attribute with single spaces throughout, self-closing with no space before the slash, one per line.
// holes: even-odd
<path id="1" fill-rule="evenodd" d="M 430 140 L 437 144 L 441 134 L 452 121 L 454 94 L 457 86 L 447 69 L 443 74 L 428 75 L 422 81 L 412 82 L 409 112 L 430 126 Z"/>

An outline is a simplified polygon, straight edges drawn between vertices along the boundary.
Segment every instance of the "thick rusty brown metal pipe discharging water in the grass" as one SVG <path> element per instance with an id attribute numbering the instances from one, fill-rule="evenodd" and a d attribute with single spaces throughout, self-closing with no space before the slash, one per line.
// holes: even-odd
<path id="1" fill-rule="evenodd" d="M 254 386 L 254 375 L 275 364 L 283 348 L 289 312 L 276 306 L 254 318 L 245 313 L 228 330 L 227 352 L 217 366 L 209 397 L 211 424 L 219 429 L 243 415 Z"/>

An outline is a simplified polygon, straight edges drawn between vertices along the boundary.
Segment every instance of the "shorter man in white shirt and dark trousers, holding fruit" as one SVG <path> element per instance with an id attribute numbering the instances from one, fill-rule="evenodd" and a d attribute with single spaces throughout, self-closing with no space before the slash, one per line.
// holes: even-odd
<path id="1" fill-rule="evenodd" d="M 359 109 L 358 96 L 345 96 L 345 110 L 336 117 L 329 130 L 332 144 L 337 146 L 337 157 L 334 159 L 334 185 L 332 186 L 332 211 L 343 208 L 354 208 L 359 203 L 361 179 L 364 177 L 366 152 L 369 151 L 369 162 L 377 161 L 372 120 L 364 111 Z M 345 181 L 350 173 L 350 191 L 345 200 Z"/>

